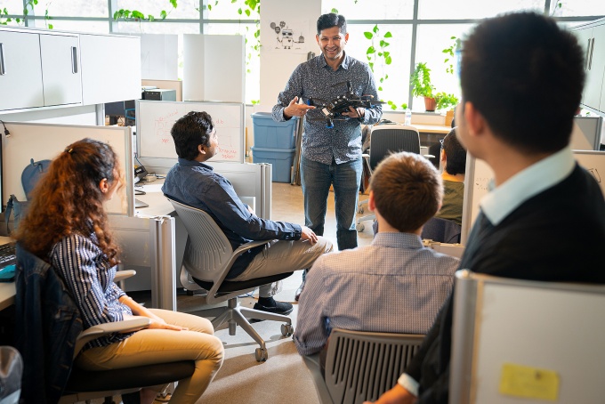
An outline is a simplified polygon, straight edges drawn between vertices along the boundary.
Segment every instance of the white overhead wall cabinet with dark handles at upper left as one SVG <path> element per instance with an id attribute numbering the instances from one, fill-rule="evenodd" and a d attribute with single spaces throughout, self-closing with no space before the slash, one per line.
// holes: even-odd
<path id="1" fill-rule="evenodd" d="M 141 98 L 141 38 L 0 28 L 0 111 Z"/>

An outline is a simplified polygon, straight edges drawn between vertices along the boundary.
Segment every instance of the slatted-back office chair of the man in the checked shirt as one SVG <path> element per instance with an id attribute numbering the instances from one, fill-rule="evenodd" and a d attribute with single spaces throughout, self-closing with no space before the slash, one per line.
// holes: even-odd
<path id="1" fill-rule="evenodd" d="M 397 384 L 424 335 L 370 333 L 335 328 L 327 345 L 326 376 L 319 353 L 303 356 L 321 404 L 375 401 Z"/>

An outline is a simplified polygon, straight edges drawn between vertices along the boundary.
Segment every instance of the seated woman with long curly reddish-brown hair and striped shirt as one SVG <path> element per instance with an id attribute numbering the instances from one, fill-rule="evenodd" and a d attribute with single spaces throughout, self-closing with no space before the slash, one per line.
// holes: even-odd
<path id="1" fill-rule="evenodd" d="M 193 403 L 221 368 L 223 346 L 208 319 L 176 311 L 147 309 L 114 283 L 120 249 L 109 230 L 103 203 L 123 186 L 117 155 L 101 141 L 69 145 L 52 161 L 32 193 L 28 215 L 13 235 L 20 246 L 51 263 L 80 311 L 84 328 L 132 319 L 151 319 L 133 333 L 93 340 L 77 356 L 79 368 L 107 370 L 151 363 L 194 360 L 190 378 L 179 381 L 172 400 Z M 156 393 L 141 391 L 141 403 Z"/>

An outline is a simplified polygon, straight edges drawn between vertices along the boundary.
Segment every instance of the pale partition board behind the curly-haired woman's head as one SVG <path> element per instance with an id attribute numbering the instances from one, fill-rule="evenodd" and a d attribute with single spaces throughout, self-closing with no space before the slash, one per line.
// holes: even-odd
<path id="1" fill-rule="evenodd" d="M 104 141 L 117 154 L 118 164 L 125 173 L 126 185 L 117 190 L 105 209 L 108 214 L 134 215 L 133 142 L 131 126 L 85 126 L 30 124 L 5 122 L 11 133 L 2 139 L 3 192 L 8 197 L 14 194 L 19 200 L 26 200 L 21 185 L 21 173 L 35 161 L 55 158 L 69 144 L 84 138 Z M 4 203 L 4 201 L 3 201 Z"/>

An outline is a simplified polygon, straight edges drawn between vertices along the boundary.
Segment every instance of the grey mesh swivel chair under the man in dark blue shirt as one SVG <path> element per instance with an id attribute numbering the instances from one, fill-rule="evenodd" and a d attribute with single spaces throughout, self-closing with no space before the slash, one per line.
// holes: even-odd
<path id="1" fill-rule="evenodd" d="M 209 214 L 173 199 L 168 198 L 168 200 L 173 204 L 174 210 L 181 217 L 189 233 L 182 261 L 181 285 L 191 291 L 201 289 L 206 291 L 200 295 L 206 304 L 227 301 L 227 306 L 223 308 L 222 313 L 212 320 L 214 329 L 225 321 L 229 322 L 229 335 L 235 335 L 237 326 L 244 328 L 244 331 L 260 345 L 254 352 L 256 360 L 259 362 L 267 360 L 269 354 L 264 340 L 247 319 L 282 321 L 284 324 L 281 325 L 281 335 L 284 336 L 294 333 L 292 319 L 281 314 L 241 307 L 238 305 L 238 295 L 287 278 L 293 272 L 244 281 L 225 280 L 239 255 L 255 246 L 267 244 L 270 240 L 251 241 L 233 251 L 229 240 Z"/>

